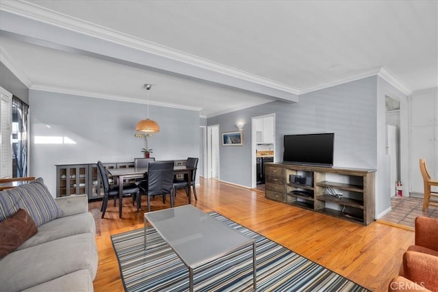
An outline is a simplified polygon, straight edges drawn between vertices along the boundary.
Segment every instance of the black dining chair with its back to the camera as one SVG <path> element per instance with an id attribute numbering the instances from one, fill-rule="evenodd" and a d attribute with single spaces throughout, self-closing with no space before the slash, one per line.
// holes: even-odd
<path id="1" fill-rule="evenodd" d="M 137 209 L 141 209 L 142 194 L 147 196 L 148 212 L 151 212 L 151 196 L 162 195 L 166 204 L 166 194 L 170 194 L 170 207 L 174 204 L 173 168 L 175 161 L 151 161 L 148 166 L 148 181 L 140 184 L 142 192 L 137 197 Z"/>

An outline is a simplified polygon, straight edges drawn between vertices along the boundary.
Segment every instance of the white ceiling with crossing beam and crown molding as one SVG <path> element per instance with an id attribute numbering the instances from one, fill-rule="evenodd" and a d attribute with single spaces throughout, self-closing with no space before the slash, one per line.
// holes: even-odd
<path id="1" fill-rule="evenodd" d="M 1 62 L 37 90 L 142 103 L 152 83 L 151 103 L 215 116 L 379 72 L 407 94 L 438 86 L 437 1 L 2 0 L 0 10 Z"/>

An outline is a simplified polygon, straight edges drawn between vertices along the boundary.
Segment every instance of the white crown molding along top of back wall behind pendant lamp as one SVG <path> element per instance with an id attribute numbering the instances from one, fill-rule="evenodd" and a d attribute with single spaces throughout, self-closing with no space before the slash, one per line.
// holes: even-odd
<path id="1" fill-rule="evenodd" d="M 92 97 L 92 98 L 101 98 L 101 99 L 107 99 L 110 101 L 123 101 L 125 103 L 140 103 L 140 104 L 147 104 L 147 101 L 144 99 L 139 98 L 133 98 L 133 97 L 127 97 L 127 96 L 120 96 L 115 94 L 103 94 L 100 92 L 90 92 L 85 90 L 77 90 L 72 88 L 61 88 L 56 87 L 52 85 L 44 85 L 44 84 L 34 84 L 32 85 L 29 90 L 40 90 L 40 91 L 46 91 L 46 92 L 55 92 L 60 94 L 70 94 L 70 95 L 76 95 L 76 96 L 84 96 L 84 97 Z M 173 103 L 160 103 L 157 101 L 149 101 L 149 105 L 156 105 L 158 107 L 172 107 L 175 109 L 187 109 L 190 111 L 201 111 L 201 107 L 188 107 L 185 105 L 177 105 Z"/>

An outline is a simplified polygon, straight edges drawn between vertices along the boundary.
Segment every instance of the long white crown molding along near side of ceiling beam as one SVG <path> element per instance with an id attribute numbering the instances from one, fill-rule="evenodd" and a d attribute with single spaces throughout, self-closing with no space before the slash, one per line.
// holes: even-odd
<path id="1" fill-rule="evenodd" d="M 174 59 L 190 66 L 196 66 L 198 68 L 217 72 L 222 75 L 227 75 L 229 77 L 242 79 L 244 81 L 255 83 L 257 85 L 262 85 L 264 87 L 272 88 L 274 90 L 279 90 L 281 92 L 289 94 L 298 94 L 299 92 L 297 88 L 293 88 L 289 85 L 259 77 L 257 75 L 253 75 L 249 72 L 238 70 L 236 68 L 224 66 L 222 64 L 212 62 L 208 59 L 203 59 L 201 57 L 190 55 L 182 51 L 171 49 L 155 42 L 142 40 L 140 38 L 136 38 L 135 36 L 130 36 L 129 34 L 124 34 L 114 29 L 109 29 L 107 27 L 96 25 L 94 23 L 82 21 L 79 18 L 74 18 L 66 14 L 54 12 L 47 8 L 42 8 L 41 6 L 38 6 L 34 3 L 29 3 L 27 1 L 2 1 L 0 3 L 0 9 L 5 12 L 10 12 L 12 14 L 23 16 L 25 18 L 33 19 L 34 21 L 40 21 L 49 25 L 55 25 L 56 27 L 68 29 L 79 34 L 85 34 L 86 36 L 92 36 L 101 40 L 116 42 L 117 44 L 123 44 L 125 47 L 129 47 L 131 49 L 138 49 L 140 51 L 151 53 L 153 55 L 158 55 L 160 57 L 165 57 L 167 59 Z"/>

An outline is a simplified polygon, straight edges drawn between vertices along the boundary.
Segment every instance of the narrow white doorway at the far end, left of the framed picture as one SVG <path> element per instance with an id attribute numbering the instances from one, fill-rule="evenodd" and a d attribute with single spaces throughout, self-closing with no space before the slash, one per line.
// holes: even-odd
<path id="1" fill-rule="evenodd" d="M 219 178 L 219 125 L 207 126 L 206 178 Z"/>

